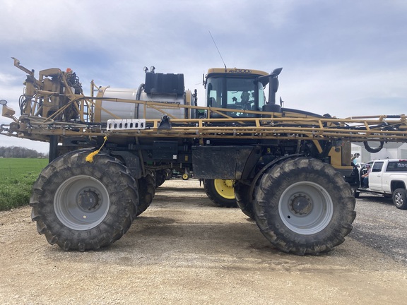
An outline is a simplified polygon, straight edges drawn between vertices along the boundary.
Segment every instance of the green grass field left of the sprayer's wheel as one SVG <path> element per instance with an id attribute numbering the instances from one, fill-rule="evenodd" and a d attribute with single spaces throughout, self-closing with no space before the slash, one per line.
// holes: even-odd
<path id="1" fill-rule="evenodd" d="M 47 159 L 0 158 L 0 210 L 30 202 L 31 189 Z"/>

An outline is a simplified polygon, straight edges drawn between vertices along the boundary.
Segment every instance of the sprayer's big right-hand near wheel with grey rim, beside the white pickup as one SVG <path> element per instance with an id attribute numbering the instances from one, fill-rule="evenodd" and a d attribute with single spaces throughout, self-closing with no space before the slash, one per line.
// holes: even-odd
<path id="1" fill-rule="evenodd" d="M 281 251 L 297 255 L 330 251 L 352 230 L 355 198 L 341 174 L 307 158 L 271 167 L 256 184 L 254 217 Z"/>

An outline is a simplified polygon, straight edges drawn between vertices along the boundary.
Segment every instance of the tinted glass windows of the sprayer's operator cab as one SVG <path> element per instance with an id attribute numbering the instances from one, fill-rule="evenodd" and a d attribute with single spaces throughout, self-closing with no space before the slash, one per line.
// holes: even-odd
<path id="1" fill-rule="evenodd" d="M 211 77 L 207 80 L 208 107 L 261 111 L 265 104 L 263 85 L 254 78 Z M 256 116 L 228 112 L 229 116 Z"/>

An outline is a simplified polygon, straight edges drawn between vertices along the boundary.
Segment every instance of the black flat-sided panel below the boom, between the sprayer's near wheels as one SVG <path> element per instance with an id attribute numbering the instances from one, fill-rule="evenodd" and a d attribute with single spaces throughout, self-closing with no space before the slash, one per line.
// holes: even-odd
<path id="1" fill-rule="evenodd" d="M 194 178 L 241 179 L 253 146 L 194 146 Z"/>

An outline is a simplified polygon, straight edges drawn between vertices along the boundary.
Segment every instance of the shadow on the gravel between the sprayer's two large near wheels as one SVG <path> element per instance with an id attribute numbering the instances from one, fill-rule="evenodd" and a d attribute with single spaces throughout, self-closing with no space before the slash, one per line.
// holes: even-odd
<path id="1" fill-rule="evenodd" d="M 172 217 L 138 217 L 121 241 L 112 246 L 126 253 L 136 250 L 138 256 L 150 261 L 167 256 L 179 258 L 179 255 L 191 259 L 219 255 L 245 257 L 253 251 L 259 256 L 281 253 L 266 240 L 255 222 L 247 220 L 208 222 L 203 218 L 177 222 Z"/>

